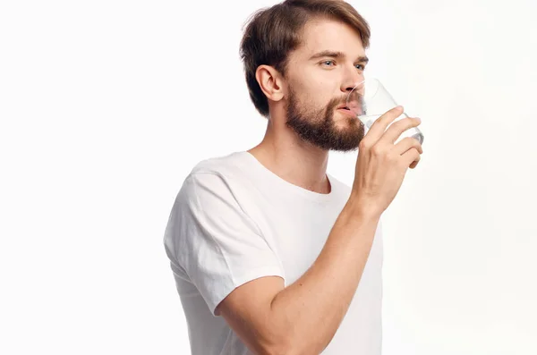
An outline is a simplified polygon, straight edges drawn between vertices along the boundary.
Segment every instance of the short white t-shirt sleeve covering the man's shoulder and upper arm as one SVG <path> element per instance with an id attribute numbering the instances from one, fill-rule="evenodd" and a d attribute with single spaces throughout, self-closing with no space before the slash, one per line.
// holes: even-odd
<path id="1" fill-rule="evenodd" d="M 166 247 L 196 286 L 213 315 L 243 283 L 284 278 L 281 263 L 260 228 L 217 173 L 191 173 L 175 199 L 166 227 Z"/>

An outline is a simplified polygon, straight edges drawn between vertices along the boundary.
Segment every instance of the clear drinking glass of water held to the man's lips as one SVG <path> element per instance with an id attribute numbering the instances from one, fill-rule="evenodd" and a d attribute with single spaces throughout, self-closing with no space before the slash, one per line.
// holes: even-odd
<path id="1" fill-rule="evenodd" d="M 366 78 L 360 84 L 356 85 L 349 93 L 346 105 L 362 121 L 366 133 L 375 120 L 397 106 L 396 101 L 388 93 L 388 90 L 384 88 L 379 80 L 374 78 Z M 405 117 L 408 117 L 408 115 L 405 113 L 401 114 L 396 118 L 394 123 Z M 420 144 L 423 144 L 423 133 L 417 127 L 404 131 L 395 143 L 406 137 L 418 139 Z"/>

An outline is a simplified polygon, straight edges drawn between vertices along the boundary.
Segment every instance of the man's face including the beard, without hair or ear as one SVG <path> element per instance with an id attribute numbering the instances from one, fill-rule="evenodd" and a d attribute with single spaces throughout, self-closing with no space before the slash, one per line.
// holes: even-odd
<path id="1" fill-rule="evenodd" d="M 309 22 L 303 46 L 289 55 L 287 126 L 315 147 L 356 149 L 363 125 L 351 111 L 339 107 L 363 80 L 366 63 L 362 40 L 350 26 L 330 20 Z"/>

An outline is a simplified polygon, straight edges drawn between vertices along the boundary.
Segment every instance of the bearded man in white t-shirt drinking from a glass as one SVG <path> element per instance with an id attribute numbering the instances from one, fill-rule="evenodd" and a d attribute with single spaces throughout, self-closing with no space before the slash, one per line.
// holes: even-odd
<path id="1" fill-rule="evenodd" d="M 166 227 L 192 354 L 380 354 L 380 216 L 422 147 L 394 144 L 420 123 L 388 128 L 400 107 L 365 136 L 345 109 L 369 38 L 340 0 L 287 0 L 248 24 L 241 53 L 265 137 L 196 165 Z M 351 188 L 326 172 L 328 151 L 356 148 Z"/>

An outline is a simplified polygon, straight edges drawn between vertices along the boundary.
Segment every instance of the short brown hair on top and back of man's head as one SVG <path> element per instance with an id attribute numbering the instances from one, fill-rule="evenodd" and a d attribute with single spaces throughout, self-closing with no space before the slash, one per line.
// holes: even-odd
<path id="1" fill-rule="evenodd" d="M 240 55 L 251 102 L 263 116 L 268 117 L 268 99 L 255 79 L 257 68 L 270 65 L 285 76 L 288 55 L 301 45 L 304 25 L 312 18 L 323 17 L 350 25 L 362 38 L 362 46 L 369 47 L 369 24 L 351 4 L 342 0 L 286 0 L 251 16 Z"/>

